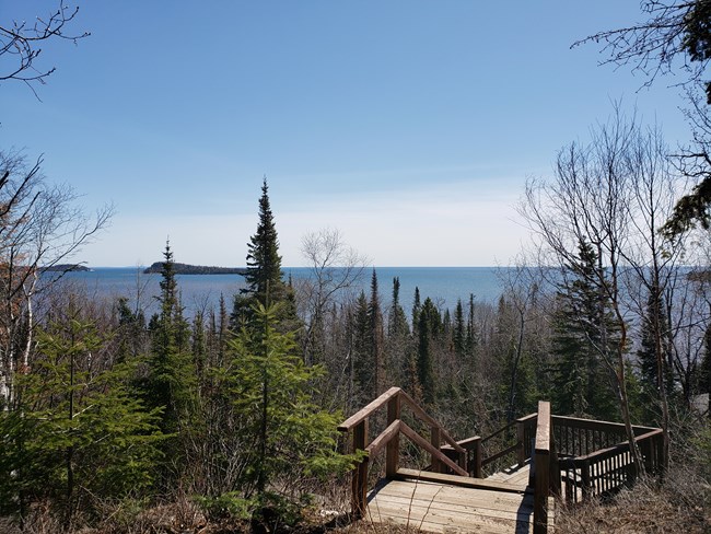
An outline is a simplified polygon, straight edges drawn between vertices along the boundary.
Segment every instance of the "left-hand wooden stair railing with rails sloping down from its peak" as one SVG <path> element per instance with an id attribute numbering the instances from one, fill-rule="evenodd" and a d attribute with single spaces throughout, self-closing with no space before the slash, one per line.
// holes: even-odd
<path id="1" fill-rule="evenodd" d="M 369 442 L 369 420 L 383 406 L 387 406 L 387 427 L 373 441 Z M 430 439 L 427 440 L 412 430 L 400 419 L 400 411 L 407 406 L 411 413 L 430 427 Z M 399 467 L 399 437 L 404 434 L 416 445 L 421 446 L 431 455 L 431 468 L 434 472 L 444 471 L 445 466 L 457 475 L 468 476 L 467 451 L 459 445 L 447 432 L 430 417 L 407 393 L 399 387 L 391 387 L 363 409 L 352 415 L 338 426 L 338 430 L 352 432 L 351 450 L 353 453 L 364 451 L 365 457 L 353 469 L 352 513 L 361 518 L 368 503 L 368 466 L 370 460 L 383 449 L 385 453 L 385 476 L 393 477 Z M 456 454 L 450 458 L 440 450 L 442 441 L 446 442 Z"/>

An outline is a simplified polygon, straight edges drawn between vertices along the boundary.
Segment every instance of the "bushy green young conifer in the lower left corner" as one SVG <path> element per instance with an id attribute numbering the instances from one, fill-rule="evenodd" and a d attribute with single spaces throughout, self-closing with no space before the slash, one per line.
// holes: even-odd
<path id="1" fill-rule="evenodd" d="M 66 527 L 79 509 L 144 491 L 160 457 L 160 410 L 129 391 L 131 362 L 103 368 L 92 323 L 70 318 L 38 335 L 16 410 L 0 414 L 0 511 L 24 516 L 47 500 Z"/>

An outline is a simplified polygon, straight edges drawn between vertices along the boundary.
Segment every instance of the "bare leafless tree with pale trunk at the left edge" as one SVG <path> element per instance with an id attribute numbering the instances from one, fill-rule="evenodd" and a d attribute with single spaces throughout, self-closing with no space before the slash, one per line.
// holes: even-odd
<path id="1" fill-rule="evenodd" d="M 42 159 L 28 164 L 0 152 L 0 403 L 11 408 L 15 373 L 27 372 L 33 347 L 36 293 L 63 270 L 49 272 L 105 228 L 113 207 L 86 216 L 77 194 L 50 185 Z M 44 274 L 43 274 L 44 272 Z"/>

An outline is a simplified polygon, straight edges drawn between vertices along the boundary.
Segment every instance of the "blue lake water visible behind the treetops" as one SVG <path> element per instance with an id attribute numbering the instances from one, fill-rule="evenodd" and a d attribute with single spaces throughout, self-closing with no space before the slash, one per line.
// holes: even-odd
<path id="1" fill-rule="evenodd" d="M 454 310 L 457 299 L 466 303 L 470 293 L 476 301 L 487 303 L 494 303 L 501 294 L 498 268 L 494 267 L 376 267 L 375 271 L 384 307 L 392 303 L 393 278 L 399 277 L 400 304 L 408 314 L 416 287 L 422 301 L 430 297 L 442 310 Z M 306 267 L 285 267 L 283 272 L 285 277 L 292 277 L 295 286 L 310 276 Z M 352 293 L 362 289 L 370 298 L 371 275 L 372 269 L 365 269 Z M 90 272 L 68 272 L 62 283 L 85 290 L 95 299 L 113 301 L 126 297 L 131 307 L 140 307 L 150 315 L 156 311 L 160 280 L 160 275 L 143 275 L 142 268 L 100 267 Z M 245 287 L 240 275 L 179 275 L 177 280 L 188 316 L 198 310 L 217 309 L 221 294 L 231 310 L 232 297 Z"/>

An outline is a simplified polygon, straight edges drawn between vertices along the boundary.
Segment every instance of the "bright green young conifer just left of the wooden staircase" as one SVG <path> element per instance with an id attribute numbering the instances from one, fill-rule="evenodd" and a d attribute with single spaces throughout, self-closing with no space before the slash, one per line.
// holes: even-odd
<path id="1" fill-rule="evenodd" d="M 247 469 L 241 486 L 246 497 L 265 494 L 277 479 L 326 476 L 343 471 L 351 460 L 337 453 L 339 414 L 320 409 L 312 399 L 313 381 L 323 373 L 306 367 L 293 334 L 275 328 L 278 306 L 257 305 L 261 335 L 243 330 L 230 341 L 230 387 L 246 438 Z M 235 451 L 236 453 L 237 451 Z"/>

